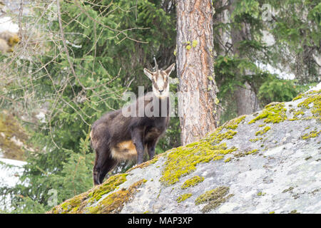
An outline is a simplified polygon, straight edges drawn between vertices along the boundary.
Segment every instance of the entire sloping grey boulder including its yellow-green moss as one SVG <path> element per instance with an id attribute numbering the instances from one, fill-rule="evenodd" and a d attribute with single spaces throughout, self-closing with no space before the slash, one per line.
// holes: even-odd
<path id="1" fill-rule="evenodd" d="M 320 92 L 230 120 L 49 213 L 320 213 Z"/>

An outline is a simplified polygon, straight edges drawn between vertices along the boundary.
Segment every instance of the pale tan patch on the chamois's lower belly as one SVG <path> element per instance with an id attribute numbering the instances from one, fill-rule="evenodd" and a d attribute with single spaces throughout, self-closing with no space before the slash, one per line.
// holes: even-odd
<path id="1" fill-rule="evenodd" d="M 133 141 L 119 142 L 116 147 L 111 148 L 111 157 L 116 160 L 130 160 L 137 157 L 136 147 Z"/>

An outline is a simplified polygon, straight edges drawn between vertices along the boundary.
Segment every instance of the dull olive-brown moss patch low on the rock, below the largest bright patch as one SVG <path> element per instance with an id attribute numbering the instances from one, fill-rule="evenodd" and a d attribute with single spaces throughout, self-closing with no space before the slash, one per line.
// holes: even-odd
<path id="1" fill-rule="evenodd" d="M 198 205 L 206 203 L 200 211 L 203 213 L 209 212 L 211 209 L 215 209 L 220 206 L 220 204 L 226 202 L 230 197 L 233 197 L 233 194 L 228 195 L 229 190 L 229 187 L 221 186 L 214 190 L 207 191 L 195 199 L 195 204 Z"/>

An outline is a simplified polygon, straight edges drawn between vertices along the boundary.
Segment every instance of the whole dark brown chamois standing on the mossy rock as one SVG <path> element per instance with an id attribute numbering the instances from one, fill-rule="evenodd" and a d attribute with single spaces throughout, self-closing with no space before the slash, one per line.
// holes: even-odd
<path id="1" fill-rule="evenodd" d="M 91 146 L 96 151 L 93 166 L 93 185 L 100 185 L 106 174 L 121 160 L 137 158 L 137 164 L 143 162 L 147 150 L 149 160 L 155 155 L 158 139 L 165 133 L 170 120 L 169 75 L 175 63 L 165 70 L 151 72 L 144 68 L 144 73 L 153 83 L 153 92 L 138 98 L 122 109 L 104 114 L 93 123 L 91 128 Z M 146 109 L 152 114 L 146 113 Z M 124 111 L 136 112 L 123 115 Z M 143 115 L 140 115 L 143 110 Z"/>

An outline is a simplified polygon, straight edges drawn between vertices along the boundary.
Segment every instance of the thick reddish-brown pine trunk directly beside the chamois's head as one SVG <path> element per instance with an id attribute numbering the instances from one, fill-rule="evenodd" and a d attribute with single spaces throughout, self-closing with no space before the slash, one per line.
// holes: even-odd
<path id="1" fill-rule="evenodd" d="M 180 138 L 186 145 L 216 128 L 210 0 L 177 1 L 177 72 Z"/>

